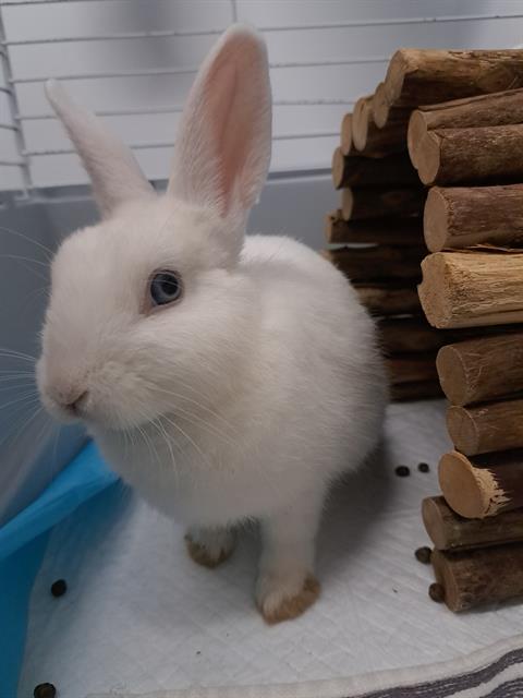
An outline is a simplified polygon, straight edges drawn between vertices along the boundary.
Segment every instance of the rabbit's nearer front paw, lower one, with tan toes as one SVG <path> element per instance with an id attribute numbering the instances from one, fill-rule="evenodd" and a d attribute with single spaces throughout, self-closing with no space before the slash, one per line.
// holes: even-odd
<path id="1" fill-rule="evenodd" d="M 262 574 L 256 586 L 259 612 L 269 625 L 302 615 L 319 597 L 319 581 L 311 574 Z"/>

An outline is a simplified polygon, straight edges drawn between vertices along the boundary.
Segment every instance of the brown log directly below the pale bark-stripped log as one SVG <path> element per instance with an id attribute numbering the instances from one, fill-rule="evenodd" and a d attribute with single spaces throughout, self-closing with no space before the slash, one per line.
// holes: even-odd
<path id="1" fill-rule="evenodd" d="M 523 393 L 523 333 L 478 337 L 442 347 L 439 381 L 452 405 Z"/>

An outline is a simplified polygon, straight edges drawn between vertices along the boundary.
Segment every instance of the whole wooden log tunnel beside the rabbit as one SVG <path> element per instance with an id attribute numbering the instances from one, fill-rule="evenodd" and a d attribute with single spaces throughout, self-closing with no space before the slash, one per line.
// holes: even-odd
<path id="1" fill-rule="evenodd" d="M 327 254 L 380 317 L 393 395 L 450 400 L 423 517 L 452 611 L 523 597 L 522 87 L 522 50 L 400 50 L 333 157 Z"/>

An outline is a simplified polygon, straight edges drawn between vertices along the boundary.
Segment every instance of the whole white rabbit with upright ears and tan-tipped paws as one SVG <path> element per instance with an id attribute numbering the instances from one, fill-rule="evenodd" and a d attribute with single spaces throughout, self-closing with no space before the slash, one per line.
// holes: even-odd
<path id="1" fill-rule="evenodd" d="M 259 520 L 269 623 L 317 598 L 331 482 L 365 459 L 387 398 L 375 326 L 346 279 L 282 237 L 245 238 L 270 158 L 266 48 L 233 26 L 190 94 L 166 194 L 58 83 L 48 97 L 104 220 L 52 263 L 41 399 L 81 419 L 124 481 L 188 528 L 214 566 Z M 318 212 L 319 225 L 319 212 Z"/>

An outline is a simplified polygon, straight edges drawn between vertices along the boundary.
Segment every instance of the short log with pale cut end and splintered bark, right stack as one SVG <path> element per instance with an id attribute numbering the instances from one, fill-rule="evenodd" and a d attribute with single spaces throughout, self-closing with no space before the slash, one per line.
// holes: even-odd
<path id="1" fill-rule="evenodd" d="M 439 461 L 439 486 L 460 516 L 483 519 L 523 506 L 523 452 L 469 458 L 457 450 Z"/>

